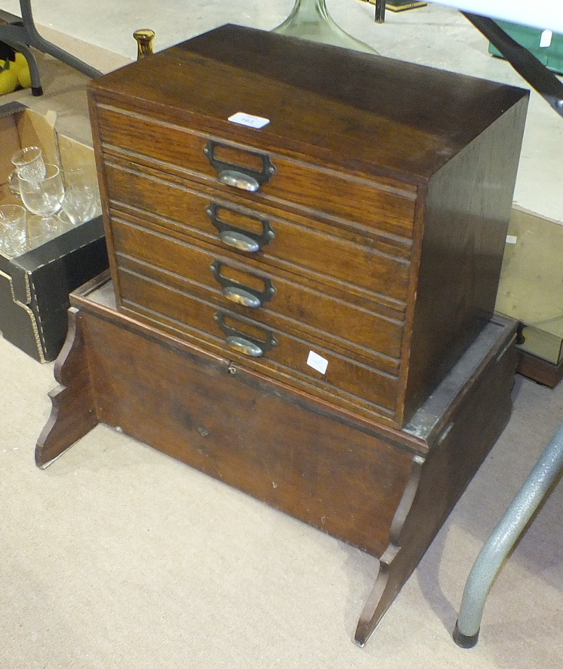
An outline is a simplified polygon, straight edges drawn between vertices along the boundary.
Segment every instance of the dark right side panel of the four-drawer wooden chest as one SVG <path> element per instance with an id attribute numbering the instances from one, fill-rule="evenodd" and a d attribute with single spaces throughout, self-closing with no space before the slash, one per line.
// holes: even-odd
<path id="1" fill-rule="evenodd" d="M 526 107 L 524 99 L 508 110 L 429 186 L 406 415 L 444 378 L 494 311 Z"/>

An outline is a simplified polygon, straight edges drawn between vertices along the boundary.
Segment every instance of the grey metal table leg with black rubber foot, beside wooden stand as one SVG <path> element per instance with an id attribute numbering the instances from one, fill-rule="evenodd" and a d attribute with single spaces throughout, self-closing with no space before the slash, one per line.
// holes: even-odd
<path id="1" fill-rule="evenodd" d="M 563 423 L 544 450 L 510 507 L 481 548 L 468 576 L 453 640 L 472 648 L 479 640 L 485 601 L 496 574 L 531 516 L 563 468 Z"/>

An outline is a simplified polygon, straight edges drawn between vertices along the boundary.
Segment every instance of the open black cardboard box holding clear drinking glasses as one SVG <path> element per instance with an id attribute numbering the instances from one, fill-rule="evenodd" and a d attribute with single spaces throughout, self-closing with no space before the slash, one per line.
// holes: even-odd
<path id="1" fill-rule="evenodd" d="M 21 204 L 8 188 L 12 155 L 40 146 L 63 170 L 95 171 L 92 147 L 56 130 L 56 114 L 19 102 L 0 106 L 0 204 Z M 0 252 L 0 332 L 40 362 L 54 360 L 67 335 L 69 293 L 108 267 L 101 217 L 71 228 L 16 258 Z"/>

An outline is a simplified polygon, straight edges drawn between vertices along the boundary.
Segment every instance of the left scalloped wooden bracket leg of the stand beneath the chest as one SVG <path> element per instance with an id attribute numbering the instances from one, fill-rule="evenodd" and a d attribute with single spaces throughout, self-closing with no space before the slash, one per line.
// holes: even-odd
<path id="1" fill-rule="evenodd" d="M 69 334 L 55 364 L 60 385 L 49 393 L 53 404 L 35 449 L 35 461 L 44 469 L 97 423 L 88 359 L 78 310 L 69 309 Z"/>

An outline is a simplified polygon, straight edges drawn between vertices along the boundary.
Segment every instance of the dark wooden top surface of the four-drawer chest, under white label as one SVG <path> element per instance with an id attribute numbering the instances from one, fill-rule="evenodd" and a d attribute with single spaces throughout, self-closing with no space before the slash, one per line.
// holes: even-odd
<path id="1" fill-rule="evenodd" d="M 529 95 L 230 24 L 99 77 L 90 92 L 259 149 L 415 183 Z M 228 121 L 237 112 L 269 123 Z"/>

